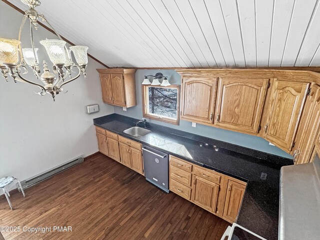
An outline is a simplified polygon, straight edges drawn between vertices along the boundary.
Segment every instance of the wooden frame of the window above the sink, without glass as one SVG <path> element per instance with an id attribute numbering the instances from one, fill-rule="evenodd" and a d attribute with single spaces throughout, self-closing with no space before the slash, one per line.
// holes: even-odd
<path id="1" fill-rule="evenodd" d="M 176 119 L 168 118 L 168 117 L 157 117 L 153 114 L 147 112 L 147 103 L 148 103 L 148 87 L 158 87 L 158 88 L 175 88 L 176 91 Z M 154 119 L 161 122 L 167 122 L 175 125 L 179 125 L 180 118 L 180 85 L 171 84 L 170 86 L 160 86 L 160 85 L 142 85 L 142 113 L 144 118 Z"/>

